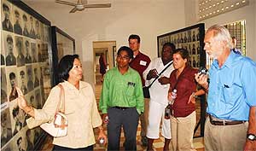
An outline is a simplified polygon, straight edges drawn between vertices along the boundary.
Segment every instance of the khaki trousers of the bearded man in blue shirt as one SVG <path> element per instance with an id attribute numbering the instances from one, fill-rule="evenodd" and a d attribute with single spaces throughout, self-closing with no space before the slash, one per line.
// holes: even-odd
<path id="1" fill-rule="evenodd" d="M 248 122 L 240 125 L 205 124 L 205 151 L 241 151 L 246 142 Z"/>

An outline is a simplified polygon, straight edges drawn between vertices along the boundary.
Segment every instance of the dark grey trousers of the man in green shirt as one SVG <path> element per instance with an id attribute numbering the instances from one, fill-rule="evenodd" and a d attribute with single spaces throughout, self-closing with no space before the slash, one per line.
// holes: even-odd
<path id="1" fill-rule="evenodd" d="M 120 150 L 121 128 L 125 132 L 125 150 L 137 150 L 137 125 L 139 114 L 136 107 L 108 108 L 108 150 Z"/>

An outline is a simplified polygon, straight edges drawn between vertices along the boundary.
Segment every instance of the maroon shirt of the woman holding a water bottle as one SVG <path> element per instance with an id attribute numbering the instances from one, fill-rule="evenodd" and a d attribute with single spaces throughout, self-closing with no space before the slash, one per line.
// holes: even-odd
<path id="1" fill-rule="evenodd" d="M 197 69 L 190 66 L 186 66 L 183 72 L 176 78 L 177 69 L 172 71 L 170 75 L 172 90 L 176 85 L 177 98 L 173 103 L 174 117 L 186 117 L 190 113 L 195 111 L 195 104 L 189 102 L 189 96 L 196 90 L 195 73 L 198 73 Z"/>

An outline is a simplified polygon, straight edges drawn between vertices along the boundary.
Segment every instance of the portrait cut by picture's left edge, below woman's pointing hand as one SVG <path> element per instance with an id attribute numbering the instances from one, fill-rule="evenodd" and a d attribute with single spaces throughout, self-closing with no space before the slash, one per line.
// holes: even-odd
<path id="1" fill-rule="evenodd" d="M 9 107 L 1 110 L 1 147 L 12 137 Z"/>

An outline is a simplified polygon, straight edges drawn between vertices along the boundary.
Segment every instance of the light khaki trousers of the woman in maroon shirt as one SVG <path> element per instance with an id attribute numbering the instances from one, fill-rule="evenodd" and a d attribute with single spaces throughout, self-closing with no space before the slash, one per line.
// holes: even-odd
<path id="1" fill-rule="evenodd" d="M 193 146 L 195 122 L 195 111 L 187 117 L 171 119 L 173 151 L 195 151 Z"/>

